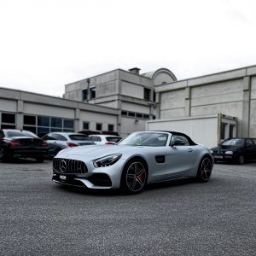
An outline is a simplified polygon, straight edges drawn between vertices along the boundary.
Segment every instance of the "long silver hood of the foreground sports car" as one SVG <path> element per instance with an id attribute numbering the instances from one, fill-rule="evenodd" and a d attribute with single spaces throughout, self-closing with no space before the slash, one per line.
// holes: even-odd
<path id="1" fill-rule="evenodd" d="M 70 156 L 83 156 L 84 160 L 93 160 L 109 154 L 125 154 L 134 152 L 135 148 L 141 150 L 144 147 L 119 146 L 119 145 L 92 145 L 74 148 L 66 148 L 57 154 L 56 158 L 66 158 Z"/>

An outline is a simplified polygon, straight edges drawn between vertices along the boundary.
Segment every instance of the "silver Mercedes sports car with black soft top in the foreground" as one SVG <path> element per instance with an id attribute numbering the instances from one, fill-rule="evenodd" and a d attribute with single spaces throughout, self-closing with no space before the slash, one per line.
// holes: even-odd
<path id="1" fill-rule="evenodd" d="M 140 131 L 108 147 L 61 150 L 53 160 L 53 181 L 89 189 L 123 189 L 129 194 L 146 183 L 195 177 L 208 182 L 213 166 L 209 149 L 174 131 Z"/>

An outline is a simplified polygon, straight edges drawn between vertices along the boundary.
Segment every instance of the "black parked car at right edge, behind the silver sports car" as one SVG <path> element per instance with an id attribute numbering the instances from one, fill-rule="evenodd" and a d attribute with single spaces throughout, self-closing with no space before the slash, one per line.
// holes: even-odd
<path id="1" fill-rule="evenodd" d="M 245 160 L 256 160 L 256 138 L 230 138 L 211 148 L 214 161 L 236 162 L 242 165 Z"/>

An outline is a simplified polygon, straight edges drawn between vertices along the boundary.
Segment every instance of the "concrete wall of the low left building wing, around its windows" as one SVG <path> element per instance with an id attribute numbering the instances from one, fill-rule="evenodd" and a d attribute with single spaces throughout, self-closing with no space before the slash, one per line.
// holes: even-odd
<path id="1" fill-rule="evenodd" d="M 23 129 L 23 115 L 32 114 L 73 119 L 75 131 L 82 130 L 84 121 L 90 122 L 90 130 L 96 130 L 96 123 L 102 124 L 103 131 L 108 131 L 108 125 L 117 129 L 119 116 L 119 111 L 114 108 L 7 88 L 0 88 L 2 112 L 16 114 L 17 129 Z"/>

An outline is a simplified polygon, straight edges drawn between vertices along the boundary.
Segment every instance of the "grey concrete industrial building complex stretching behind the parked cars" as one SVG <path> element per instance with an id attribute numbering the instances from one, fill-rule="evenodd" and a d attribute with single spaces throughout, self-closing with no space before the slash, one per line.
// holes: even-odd
<path id="1" fill-rule="evenodd" d="M 1 128 L 38 136 L 90 130 L 124 137 L 145 130 L 148 120 L 218 113 L 236 119 L 237 136 L 256 137 L 256 66 L 179 81 L 166 68 L 142 74 L 137 67 L 116 69 L 66 84 L 63 98 L 0 88 Z"/>

